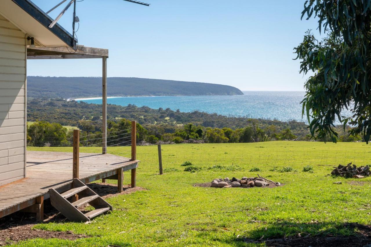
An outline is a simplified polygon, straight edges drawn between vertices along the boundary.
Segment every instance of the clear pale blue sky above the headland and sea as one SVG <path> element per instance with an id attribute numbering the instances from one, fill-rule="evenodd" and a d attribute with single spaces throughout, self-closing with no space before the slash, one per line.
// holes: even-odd
<path id="1" fill-rule="evenodd" d="M 47 11 L 60 0 L 33 1 Z M 109 77 L 303 90 L 307 76 L 298 73 L 293 47 L 307 29 L 317 33 L 316 20 L 300 20 L 304 0 L 147 2 L 150 7 L 122 0 L 77 3 L 79 43 L 109 49 Z M 69 32 L 71 10 L 59 21 Z M 27 66 L 28 75 L 102 76 L 100 59 L 29 60 Z"/>

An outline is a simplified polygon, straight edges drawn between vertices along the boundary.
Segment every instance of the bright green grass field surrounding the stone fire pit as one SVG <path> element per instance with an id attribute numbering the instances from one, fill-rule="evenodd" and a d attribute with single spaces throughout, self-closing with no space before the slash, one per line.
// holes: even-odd
<path id="1" fill-rule="evenodd" d="M 72 151 L 71 148 L 30 148 Z M 81 148 L 99 152 L 100 148 Z M 127 152 L 109 148 L 112 154 Z M 36 229 L 72 231 L 91 238 L 76 241 L 35 239 L 24 246 L 254 246 L 237 241 L 300 234 L 355 234 L 343 223 L 370 224 L 371 178 L 362 185 L 326 176 L 331 166 L 369 164 L 371 145 L 365 143 L 260 142 L 250 144 L 163 145 L 164 175 L 158 175 L 157 146 L 139 146 L 137 185 L 146 188 L 108 198 L 115 210 L 92 224 L 48 223 Z M 198 172 L 180 165 L 191 161 Z M 220 165 L 214 167 L 215 165 Z M 303 172 L 310 165 L 313 172 Z M 249 172 L 253 167 L 259 172 Z M 269 171 L 276 167 L 275 171 Z M 292 167 L 293 172 L 279 172 Z M 284 184 L 276 188 L 204 188 L 195 183 L 213 178 L 256 176 L 259 173 Z M 125 172 L 125 183 L 130 176 Z M 342 184 L 333 184 L 341 181 Z M 116 181 L 112 181 L 113 183 Z"/>

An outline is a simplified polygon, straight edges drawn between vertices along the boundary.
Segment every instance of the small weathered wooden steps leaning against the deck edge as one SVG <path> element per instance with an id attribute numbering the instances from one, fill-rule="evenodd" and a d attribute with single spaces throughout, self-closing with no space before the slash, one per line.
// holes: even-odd
<path id="1" fill-rule="evenodd" d="M 60 194 L 51 188 L 49 189 L 49 194 L 52 206 L 70 221 L 86 222 L 100 214 L 106 213 L 110 210 L 112 211 L 112 206 L 108 202 L 77 178 L 73 179 L 72 189 Z M 75 195 L 77 195 L 76 198 L 79 198 L 79 200 L 75 202 L 69 202 L 67 200 Z M 94 207 L 95 210 L 84 214 L 79 210 L 79 207 L 82 207 L 87 203 Z"/>

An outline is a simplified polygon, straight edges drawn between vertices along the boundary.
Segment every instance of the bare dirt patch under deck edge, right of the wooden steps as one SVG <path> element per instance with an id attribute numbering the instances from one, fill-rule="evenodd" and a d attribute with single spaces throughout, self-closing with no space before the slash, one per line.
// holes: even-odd
<path id="1" fill-rule="evenodd" d="M 109 198 L 109 197 L 114 197 L 116 195 L 125 195 L 125 194 L 131 194 L 136 191 L 146 190 L 145 188 L 141 188 L 141 187 L 131 188 L 131 185 L 128 184 L 128 185 L 124 185 L 123 191 L 119 193 L 117 191 L 117 184 L 93 183 L 93 184 L 87 184 L 87 185 L 89 188 L 95 191 L 95 193 L 101 196 L 102 198 Z"/>

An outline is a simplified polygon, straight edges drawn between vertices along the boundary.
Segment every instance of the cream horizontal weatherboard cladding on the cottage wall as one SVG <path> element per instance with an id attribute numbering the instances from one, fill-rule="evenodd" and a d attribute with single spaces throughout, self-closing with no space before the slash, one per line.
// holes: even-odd
<path id="1" fill-rule="evenodd" d="M 26 34 L 0 15 L 0 186 L 26 175 Z"/>

